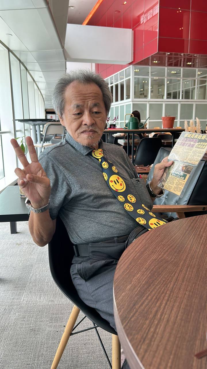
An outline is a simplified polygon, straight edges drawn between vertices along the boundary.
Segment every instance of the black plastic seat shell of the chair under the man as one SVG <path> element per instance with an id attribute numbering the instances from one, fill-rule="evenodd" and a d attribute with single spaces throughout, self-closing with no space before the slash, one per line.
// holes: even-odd
<path id="1" fill-rule="evenodd" d="M 48 244 L 48 255 L 50 272 L 59 289 L 91 321 L 105 331 L 116 334 L 110 324 L 94 308 L 87 306 L 78 296 L 70 275 L 70 267 L 74 257 L 73 244 L 60 217 L 57 217 L 56 230 L 52 240 Z"/>

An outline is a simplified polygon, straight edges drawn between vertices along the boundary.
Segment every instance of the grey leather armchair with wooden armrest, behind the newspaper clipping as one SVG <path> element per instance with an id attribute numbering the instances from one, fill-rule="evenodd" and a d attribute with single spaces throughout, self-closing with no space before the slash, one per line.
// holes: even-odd
<path id="1" fill-rule="evenodd" d="M 152 180 L 154 166 L 169 155 L 172 148 L 162 147 L 147 177 L 147 183 Z M 165 213 L 168 217 L 187 218 L 207 214 L 207 154 L 203 156 L 189 180 L 183 197 L 166 191 L 162 197 L 155 199 L 152 212 Z"/>

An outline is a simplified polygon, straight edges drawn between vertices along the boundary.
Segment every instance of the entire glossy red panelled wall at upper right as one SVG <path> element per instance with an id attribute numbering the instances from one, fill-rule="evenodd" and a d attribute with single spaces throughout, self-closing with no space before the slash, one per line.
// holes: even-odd
<path id="1" fill-rule="evenodd" d="M 132 64 L 158 51 L 207 54 L 207 0 L 127 0 L 125 5 L 123 2 L 103 0 L 88 25 L 131 28 Z M 126 66 L 96 64 L 96 70 L 106 78 Z"/>

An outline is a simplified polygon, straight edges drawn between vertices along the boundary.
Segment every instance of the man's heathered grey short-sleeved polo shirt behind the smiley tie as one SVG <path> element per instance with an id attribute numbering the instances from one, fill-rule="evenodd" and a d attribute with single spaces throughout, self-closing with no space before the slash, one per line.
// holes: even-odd
<path id="1" fill-rule="evenodd" d="M 125 151 L 117 145 L 99 148 L 117 168 L 124 182 L 141 203 L 152 208 L 144 180 L 137 181 L 134 166 Z M 99 161 L 67 133 L 66 139 L 45 149 L 39 162 L 51 183 L 50 217 L 62 219 L 74 244 L 101 241 L 129 234 L 138 226 L 113 195 L 105 182 Z"/>

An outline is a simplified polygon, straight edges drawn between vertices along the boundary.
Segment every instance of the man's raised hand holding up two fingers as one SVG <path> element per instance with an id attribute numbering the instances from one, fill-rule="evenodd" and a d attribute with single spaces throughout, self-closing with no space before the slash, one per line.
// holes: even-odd
<path id="1" fill-rule="evenodd" d="M 14 172 L 18 176 L 18 185 L 21 187 L 25 196 L 30 200 L 32 207 L 40 208 L 48 204 L 50 180 L 38 161 L 31 137 L 26 137 L 26 143 L 31 158 L 31 164 L 28 162 L 18 142 L 14 138 L 11 139 L 14 151 L 23 165 L 23 170 L 16 168 Z"/>

